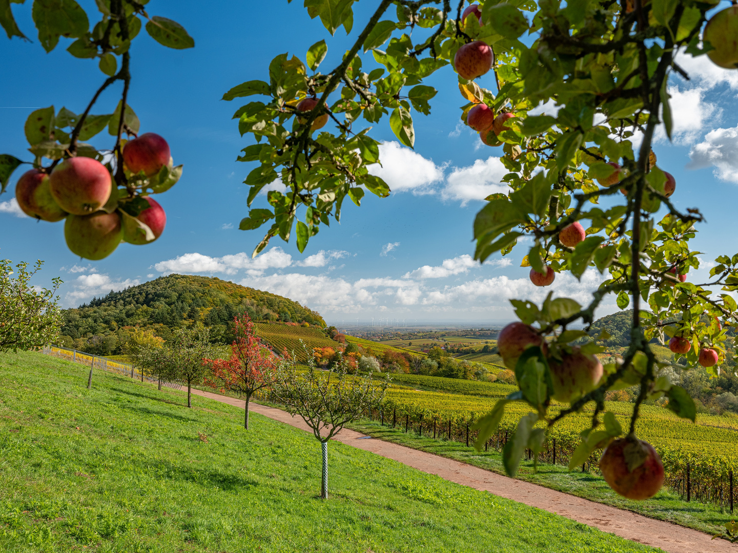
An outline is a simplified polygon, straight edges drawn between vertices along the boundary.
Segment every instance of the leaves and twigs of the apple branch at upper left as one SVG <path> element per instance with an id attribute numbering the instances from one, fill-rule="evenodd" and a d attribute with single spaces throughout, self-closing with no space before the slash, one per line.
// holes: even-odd
<path id="1" fill-rule="evenodd" d="M 30 40 L 15 23 L 11 10 L 11 4 L 24 3 L 25 0 L 0 0 L 0 25 L 8 38 Z M 104 80 L 81 113 L 77 108 L 74 111 L 66 107 L 57 110 L 50 105 L 28 116 L 24 131 L 32 161 L 1 154 L 0 192 L 5 191 L 10 176 L 21 164 L 32 164 L 52 173 L 60 161 L 69 157 L 97 159 L 114 176 L 113 191 L 102 210 L 117 212 L 124 225 L 139 227 L 150 241 L 153 236 L 151 229 L 135 219 L 149 207 L 142 196 L 165 192 L 173 187 L 182 175 L 182 165 L 173 167 L 170 163 L 155 175 L 144 175 L 132 173 L 123 164 L 122 150 L 126 142 L 123 133 L 129 138 L 137 136 L 140 128 L 138 117 L 126 102 L 131 86 L 131 43 L 142 27 L 156 42 L 169 48 L 191 48 L 195 42 L 176 21 L 159 15 L 150 16 L 145 5 L 148 0 L 95 0 L 95 4 L 99 13 L 88 14 L 75 0 L 32 0 L 32 18 L 38 30 L 38 42 L 46 52 L 55 49 L 61 38 L 75 39 L 66 51 L 75 58 L 97 61 Z M 91 24 L 93 15 L 99 21 L 93 19 Z M 100 94 L 118 81 L 123 83 L 123 87 L 117 105 L 103 110 L 108 113 L 92 114 Z M 97 150 L 86 143 L 105 130 L 112 136 L 110 149 Z"/>

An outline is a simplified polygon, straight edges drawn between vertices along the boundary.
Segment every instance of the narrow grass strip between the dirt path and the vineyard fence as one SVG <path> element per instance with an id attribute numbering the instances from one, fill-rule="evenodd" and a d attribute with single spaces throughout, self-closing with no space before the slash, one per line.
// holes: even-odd
<path id="1" fill-rule="evenodd" d="M 418 437 L 417 429 L 406 434 L 404 428 L 399 428 L 400 424 L 398 424 L 398 428 L 393 429 L 379 425 L 379 422 L 376 421 L 362 420 L 349 426 L 356 431 L 389 442 L 406 445 L 410 448 L 435 453 L 476 467 L 505 474 L 500 453 L 492 449 L 489 452 L 476 451 L 472 447 L 467 448 L 466 444 L 461 442 Z M 439 431 L 439 434 L 441 432 Z M 567 467 L 563 465 L 540 464 L 536 472 L 533 462 L 524 460 L 520 464 L 518 478 L 553 490 L 612 505 L 619 509 L 638 512 L 650 518 L 673 522 L 710 534 L 724 532 L 723 524 L 736 519 L 735 516 L 730 514 L 729 509 L 714 504 L 698 503 L 697 501 L 687 503 L 669 490 L 661 490 L 654 498 L 647 501 L 632 501 L 614 493 L 599 474 L 582 473 L 581 470 L 569 472 Z"/>

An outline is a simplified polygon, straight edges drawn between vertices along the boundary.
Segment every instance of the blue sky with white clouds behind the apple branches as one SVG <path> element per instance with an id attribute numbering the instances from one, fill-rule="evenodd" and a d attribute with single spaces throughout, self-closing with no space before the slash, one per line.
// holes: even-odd
<path id="1" fill-rule="evenodd" d="M 95 13 L 94 1 L 80 4 Z M 141 131 L 164 136 L 175 164 L 184 164 L 179 183 L 156 197 L 168 214 L 164 234 L 148 246 L 122 244 L 106 260 L 80 260 L 64 244 L 63 223 L 18 216 L 13 201 L 15 180 L 22 174 L 18 170 L 0 197 L 0 255 L 14 261 L 45 260 L 37 283 L 48 285 L 61 276 L 66 307 L 171 272 L 210 275 L 280 293 L 319 310 L 328 321 L 347 324 L 356 318 L 500 323 L 512 319 L 508 299 L 540 301 L 548 289 L 528 282 L 529 269 L 520 267 L 525 254 L 520 246 L 484 265 L 470 259 L 472 220 L 483 205 L 480 198 L 503 191 L 499 178 L 506 171 L 497 159 L 501 148 L 481 145 L 459 125 L 459 106 L 465 100 L 450 67 L 429 81 L 438 88 L 431 116 L 414 114 L 414 152 L 397 144 L 387 122 L 372 131 L 386 142 L 384 167 L 377 170 L 393 189 L 390 198 L 367 195 L 360 209 L 345 202 L 341 224 L 322 227 L 304 254 L 294 243 L 275 239 L 265 254 L 249 259 L 263 232 L 238 230 L 247 214 L 248 189 L 242 181 L 252 166 L 235 158 L 252 142 L 239 136 L 231 119 L 241 104 L 220 98 L 245 80 L 266 79 L 275 55 L 289 52 L 304 60 L 308 47 L 321 38 L 328 43 L 321 69 L 331 69 L 367 20 L 369 4 L 355 4 L 354 31 L 347 38 L 343 29 L 331 37 L 297 0 L 211 1 L 207 10 L 189 2 L 152 1 L 150 15 L 179 21 L 196 41 L 194 49 L 171 50 L 142 33 L 131 49 L 128 103 L 141 120 Z M 53 104 L 80 113 L 103 80 L 94 60 L 65 52 L 71 41 L 62 39 L 46 54 L 38 44 L 30 7 L 30 2 L 13 4 L 32 43 L 0 36 L 0 153 L 27 160 L 23 125 L 30 111 Z M 708 224 L 700 225 L 693 244 L 708 262 L 738 249 L 733 232 L 738 72 L 719 69 L 706 58 L 682 58 L 680 64 L 692 80 L 672 84 L 675 142 L 669 144 L 661 133 L 654 150 L 659 166 L 675 175 L 677 206 L 699 206 L 706 215 Z M 366 56 L 365 68 L 371 66 L 373 60 Z M 494 88 L 491 80 L 481 77 L 480 84 Z M 119 96 L 120 88 L 108 88 L 92 113 L 111 113 Z M 113 141 L 100 133 L 92 143 L 109 148 Z M 259 202 L 266 203 L 266 198 Z M 705 282 L 706 270 L 689 278 Z M 580 283 L 559 275 L 552 288 L 557 295 L 584 302 L 599 279 L 599 274 L 588 273 Z M 614 299 L 607 299 L 598 315 L 614 310 Z"/>

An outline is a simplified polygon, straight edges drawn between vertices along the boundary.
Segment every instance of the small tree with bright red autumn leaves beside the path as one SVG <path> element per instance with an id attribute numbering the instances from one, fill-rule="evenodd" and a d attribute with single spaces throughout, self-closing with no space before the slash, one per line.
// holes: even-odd
<path id="1" fill-rule="evenodd" d="M 246 313 L 233 319 L 235 340 L 231 344 L 228 359 L 206 359 L 213 378 L 205 383 L 213 388 L 237 392 L 246 396 L 244 428 L 249 429 L 249 401 L 257 390 L 272 386 L 277 377 L 277 357 L 272 349 L 261 343 L 254 330 L 254 323 Z"/>

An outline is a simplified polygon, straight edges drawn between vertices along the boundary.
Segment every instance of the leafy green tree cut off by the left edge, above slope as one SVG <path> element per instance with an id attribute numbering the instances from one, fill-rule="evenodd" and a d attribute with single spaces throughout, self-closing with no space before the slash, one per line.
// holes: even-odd
<path id="1" fill-rule="evenodd" d="M 42 265 L 38 260 L 29 270 L 28 263 L 20 262 L 13 271 L 12 261 L 0 260 L 0 351 L 44 346 L 61 329 L 59 296 L 54 296 L 61 278 L 52 279 L 51 290 L 30 285 Z"/>

